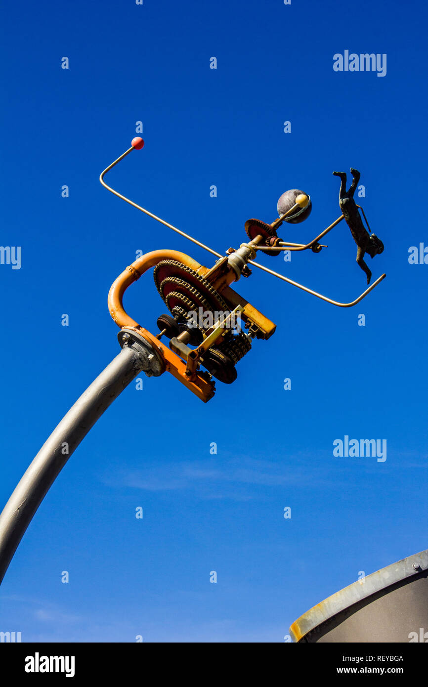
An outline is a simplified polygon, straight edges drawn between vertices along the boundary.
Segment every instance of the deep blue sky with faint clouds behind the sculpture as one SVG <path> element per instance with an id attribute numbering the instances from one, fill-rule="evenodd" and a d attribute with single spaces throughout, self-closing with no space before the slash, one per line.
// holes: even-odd
<path id="1" fill-rule="evenodd" d="M 313 211 L 281 235 L 310 240 L 339 216 L 333 170 L 361 171 L 385 244 L 368 264 L 386 280 L 348 309 L 260 271 L 240 280 L 275 335 L 207 405 L 168 374 L 132 383 L 60 473 L 0 590 L 0 629 L 23 641 L 282 642 L 360 571 L 427 547 L 428 266 L 408 262 L 428 245 L 427 8 L 78 0 L 0 12 L 0 243 L 22 249 L 21 269 L 0 265 L 1 505 L 119 351 L 106 297 L 136 251 L 212 265 L 100 185 L 135 122 L 146 146 L 107 180 L 221 253 L 248 218 L 273 221 L 288 188 Z M 386 76 L 333 71 L 346 49 L 387 54 Z M 365 275 L 344 222 L 326 243 L 260 262 L 353 300 Z M 150 274 L 124 302 L 152 330 L 165 311 Z M 336 458 L 345 435 L 385 438 L 387 460 Z"/>

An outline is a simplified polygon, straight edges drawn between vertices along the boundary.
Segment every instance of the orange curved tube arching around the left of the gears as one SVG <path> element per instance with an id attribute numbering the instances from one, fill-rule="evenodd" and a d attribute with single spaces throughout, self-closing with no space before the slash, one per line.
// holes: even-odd
<path id="1" fill-rule="evenodd" d="M 111 284 L 109 291 L 109 312 L 115 323 L 121 328 L 139 326 L 139 324 L 135 322 L 135 319 L 132 319 L 132 317 L 126 313 L 123 306 L 122 300 L 126 289 L 128 289 L 130 284 L 139 279 L 144 272 L 150 269 L 150 267 L 155 267 L 161 260 L 177 260 L 187 267 L 194 269 L 194 271 L 198 271 L 202 267 L 199 262 L 196 262 L 196 260 L 193 260 L 193 258 L 190 258 L 190 256 L 187 256 L 185 253 L 168 249 L 151 251 L 135 260 L 135 262 L 129 265 L 129 267 L 126 267 L 122 274 L 120 274 L 113 284 Z"/>

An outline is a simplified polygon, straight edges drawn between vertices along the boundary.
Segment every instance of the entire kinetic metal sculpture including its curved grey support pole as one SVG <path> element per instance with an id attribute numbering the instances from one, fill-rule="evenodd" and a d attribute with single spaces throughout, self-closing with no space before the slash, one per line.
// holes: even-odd
<path id="1" fill-rule="evenodd" d="M 277 234 L 277 229 L 283 223 L 300 223 L 311 213 L 310 196 L 293 189 L 286 191 L 280 197 L 279 217 L 273 223 L 267 224 L 258 219 L 249 219 L 245 223 L 247 241 L 241 243 L 236 250 L 229 248 L 225 255 L 222 255 L 106 185 L 105 174 L 132 150 L 139 150 L 143 146 L 143 139 L 139 137 L 133 139 L 131 148 L 128 148 L 102 172 L 100 175 L 102 185 L 126 203 L 188 238 L 218 259 L 213 267 L 208 268 L 178 251 L 152 251 L 135 260 L 115 280 L 109 292 L 109 311 L 113 320 L 120 326 L 118 339 L 122 350 L 78 398 L 54 429 L 3 509 L 0 515 L 0 582 L 34 513 L 71 453 L 104 410 L 139 372 L 143 371 L 147 376 L 159 376 L 164 372 L 170 372 L 188 390 L 206 403 L 214 396 L 213 377 L 227 384 L 234 382 L 236 363 L 249 352 L 252 340 L 269 339 L 273 335 L 275 324 L 230 287 L 230 284 L 238 281 L 241 275 L 243 277 L 251 275 L 249 265 L 262 269 L 306 293 L 311 293 L 341 308 L 349 308 L 359 303 L 385 278 L 385 274 L 381 275 L 356 300 L 342 303 L 331 300 L 254 262 L 257 251 L 270 256 L 278 256 L 284 250 L 311 249 L 314 253 L 319 253 L 325 247 L 319 243 L 319 240 L 343 218 L 346 218 L 352 236 L 359 246 L 361 266 L 364 266 L 362 260 L 364 251 L 370 255 L 375 254 L 374 246 L 376 246 L 376 252 L 381 252 L 383 245 L 373 235 L 367 238 L 368 234 L 361 223 L 358 210 L 354 208 L 352 194 L 358 173 L 354 175 L 354 182 L 348 194 L 345 188 L 346 175 L 337 173 L 342 181 L 341 209 L 343 214 L 310 243 L 285 242 Z M 156 335 L 135 322 L 126 313 L 122 304 L 124 291 L 151 267 L 155 268 L 154 278 L 157 291 L 170 311 L 170 315 L 160 315 L 157 319 L 160 331 Z M 367 269 L 365 271 L 367 272 Z M 204 317 L 202 320 L 196 318 L 195 321 L 194 313 L 198 312 L 202 312 Z M 234 330 L 231 326 L 238 314 L 245 323 L 246 331 L 236 331 L 236 328 Z M 205 317 L 205 315 L 210 315 L 210 317 Z M 169 346 L 165 346 L 160 341 L 163 336 L 170 339 Z M 63 450 L 64 446 L 67 446 L 67 451 Z"/>

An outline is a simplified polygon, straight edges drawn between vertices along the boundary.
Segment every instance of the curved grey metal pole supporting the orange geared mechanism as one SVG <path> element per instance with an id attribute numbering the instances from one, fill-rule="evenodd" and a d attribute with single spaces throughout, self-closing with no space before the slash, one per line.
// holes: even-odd
<path id="1" fill-rule="evenodd" d="M 139 352 L 124 346 L 38 451 L 0 515 L 0 584 L 34 513 L 71 453 L 143 366 Z"/>

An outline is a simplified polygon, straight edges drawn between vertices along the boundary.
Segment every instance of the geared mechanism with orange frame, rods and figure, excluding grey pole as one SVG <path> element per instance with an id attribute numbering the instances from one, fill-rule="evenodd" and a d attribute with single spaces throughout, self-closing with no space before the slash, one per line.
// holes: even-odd
<path id="1" fill-rule="evenodd" d="M 214 395 L 215 387 L 212 377 L 227 384 L 235 381 L 237 376 L 236 363 L 251 349 L 251 340 L 254 338 L 269 339 L 275 331 L 273 322 L 230 288 L 230 284 L 238 281 L 241 275 L 243 277 L 251 275 L 249 265 L 258 267 L 328 303 L 343 308 L 357 304 L 385 277 L 384 274 L 381 275 L 356 300 L 350 303 L 341 303 L 307 289 L 306 286 L 297 284 L 284 275 L 254 262 L 257 251 L 262 251 L 269 256 L 278 256 L 284 250 L 304 251 L 310 248 L 314 253 L 319 253 L 325 247 L 319 243 L 319 240 L 345 218 L 350 226 L 352 236 L 359 246 L 357 261 L 361 267 L 364 266 L 367 270 L 368 268 L 362 259 L 364 251 L 374 255 L 374 250 L 381 252 L 380 246 L 383 249 L 383 245 L 374 234 L 370 237 L 364 229 L 357 205 L 352 198 L 359 178 L 359 173 L 355 170 L 353 170 L 354 181 L 348 194 L 346 194 L 345 188 L 346 174 L 333 172 L 339 174 L 342 179 L 340 203 L 343 214 L 310 243 L 284 242 L 277 234 L 282 223 L 300 223 L 311 214 L 310 196 L 300 190 L 293 189 L 286 191 L 280 197 L 277 208 L 279 217 L 273 223 L 267 224 L 258 219 L 249 219 L 245 223 L 247 243 L 241 243 L 236 250 L 229 248 L 226 255 L 222 256 L 188 234 L 184 234 L 177 227 L 173 227 L 148 212 L 144 207 L 133 203 L 105 183 L 106 172 L 109 172 L 128 153 L 131 153 L 131 150 L 134 148 L 139 150 L 143 146 L 142 138 L 133 139 L 131 148 L 102 172 L 100 181 L 104 188 L 218 258 L 213 267 L 207 268 L 182 253 L 153 251 L 153 253 L 135 260 L 114 282 L 109 293 L 109 309 L 116 324 L 122 328 L 121 345 L 123 345 L 124 336 L 126 336 L 126 340 L 130 340 L 130 337 L 131 340 L 135 340 L 135 336 L 144 338 L 144 345 L 148 348 L 148 354 L 152 361 L 146 374 L 159 375 L 165 371 L 171 372 L 176 379 L 204 402 L 209 401 Z M 137 324 L 126 314 L 122 306 L 122 296 L 127 286 L 150 267 L 155 267 L 154 277 L 157 291 L 171 313 L 170 315 L 161 315 L 158 318 L 157 325 L 161 331 L 157 335 L 153 335 Z M 199 319 L 199 326 L 195 326 L 194 313 L 198 311 L 204 314 L 212 313 L 212 315 L 222 313 L 223 317 L 216 319 L 216 322 L 210 322 L 208 318 L 209 324 L 207 326 L 204 326 Z M 229 315 L 225 315 L 225 313 L 229 313 Z M 240 315 L 240 318 L 245 322 L 247 333 L 243 331 L 232 332 L 229 324 L 236 314 Z M 170 339 L 169 348 L 159 343 L 159 339 L 164 335 Z M 189 343 L 195 348 L 190 348 Z M 205 368 L 205 370 L 201 370 L 201 368 Z"/>

